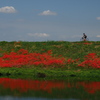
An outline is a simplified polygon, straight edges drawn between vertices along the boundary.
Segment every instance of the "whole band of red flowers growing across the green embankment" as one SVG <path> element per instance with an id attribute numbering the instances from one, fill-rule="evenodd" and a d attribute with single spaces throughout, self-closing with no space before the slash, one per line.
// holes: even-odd
<path id="1" fill-rule="evenodd" d="M 80 58 L 79 58 L 80 59 Z M 80 67 L 100 68 L 100 57 L 95 53 L 85 56 L 80 63 L 79 59 L 66 59 L 64 57 L 52 56 L 52 50 L 45 53 L 29 53 L 28 50 L 20 49 L 17 52 L 4 53 L 0 57 L 0 67 L 22 67 L 22 66 L 43 66 L 43 67 L 64 67 L 68 64 L 76 64 Z"/>

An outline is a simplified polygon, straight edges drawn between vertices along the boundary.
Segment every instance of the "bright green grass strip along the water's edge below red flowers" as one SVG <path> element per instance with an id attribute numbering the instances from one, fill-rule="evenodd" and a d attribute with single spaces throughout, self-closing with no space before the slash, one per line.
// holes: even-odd
<path id="1" fill-rule="evenodd" d="M 100 81 L 100 70 L 61 70 L 43 68 L 0 68 L 1 77 L 45 80 L 91 80 Z"/>

